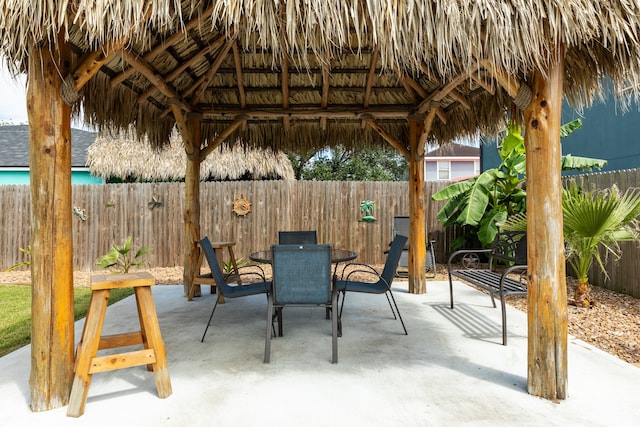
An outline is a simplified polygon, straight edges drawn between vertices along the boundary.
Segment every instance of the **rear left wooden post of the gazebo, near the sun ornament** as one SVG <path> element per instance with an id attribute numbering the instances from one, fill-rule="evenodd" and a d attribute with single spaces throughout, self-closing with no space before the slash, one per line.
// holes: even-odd
<path id="1" fill-rule="evenodd" d="M 200 240 L 200 144 L 202 132 L 199 119 L 187 120 L 191 150 L 187 156 L 184 186 L 184 295 L 189 295 L 191 284 L 200 274 L 198 263 L 198 246 Z M 186 145 L 185 145 L 186 146 Z"/>

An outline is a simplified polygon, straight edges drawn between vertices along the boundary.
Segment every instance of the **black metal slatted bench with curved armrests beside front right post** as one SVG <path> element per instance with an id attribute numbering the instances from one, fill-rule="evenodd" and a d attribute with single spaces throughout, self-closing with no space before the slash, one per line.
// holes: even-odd
<path id="1" fill-rule="evenodd" d="M 486 264 L 481 257 L 487 257 Z M 459 265 L 462 268 L 456 268 Z M 527 294 L 527 239 L 526 232 L 508 231 L 496 235 L 491 249 L 463 249 L 454 252 L 447 262 L 449 293 L 453 309 L 453 278 L 456 277 L 489 292 L 493 307 L 495 297 L 502 308 L 502 344 L 507 345 L 507 313 L 505 298 Z"/>

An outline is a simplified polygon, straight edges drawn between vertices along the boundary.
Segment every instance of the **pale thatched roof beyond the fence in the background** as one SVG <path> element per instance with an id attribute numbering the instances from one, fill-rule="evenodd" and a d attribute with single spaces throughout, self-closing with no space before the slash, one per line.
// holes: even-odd
<path id="1" fill-rule="evenodd" d="M 169 145 L 162 149 L 136 138 L 133 130 L 103 132 L 89 146 L 87 156 L 92 175 L 136 177 L 146 181 L 182 180 L 186 162 L 182 138 L 177 131 L 171 134 Z M 283 152 L 245 148 L 240 143 L 221 145 L 200 164 L 201 181 L 238 179 L 295 180 L 295 173 Z"/>

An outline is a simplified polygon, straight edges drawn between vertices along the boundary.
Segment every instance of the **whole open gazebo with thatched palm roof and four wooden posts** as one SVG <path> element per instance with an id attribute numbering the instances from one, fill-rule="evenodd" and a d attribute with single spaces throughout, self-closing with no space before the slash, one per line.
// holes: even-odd
<path id="1" fill-rule="evenodd" d="M 33 410 L 73 374 L 70 117 L 133 124 L 186 161 L 184 281 L 195 274 L 201 162 L 225 140 L 291 150 L 390 144 L 409 161 L 409 288 L 425 286 L 425 143 L 524 123 L 528 390 L 567 394 L 560 183 L 564 97 L 639 92 L 640 3 L 395 0 L 1 1 L 0 52 L 28 74 Z M 204 146 L 202 141 L 208 141 Z"/>

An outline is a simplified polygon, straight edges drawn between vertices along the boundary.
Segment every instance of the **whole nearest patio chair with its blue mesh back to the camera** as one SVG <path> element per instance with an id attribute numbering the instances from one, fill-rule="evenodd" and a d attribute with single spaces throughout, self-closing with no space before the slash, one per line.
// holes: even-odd
<path id="1" fill-rule="evenodd" d="M 264 362 L 271 360 L 274 309 L 319 306 L 331 309 L 332 363 L 338 363 L 338 292 L 331 273 L 330 245 L 273 245 L 273 288 L 269 293 Z M 333 309 L 333 307 L 336 309 Z M 282 327 L 282 322 L 279 324 Z"/>

